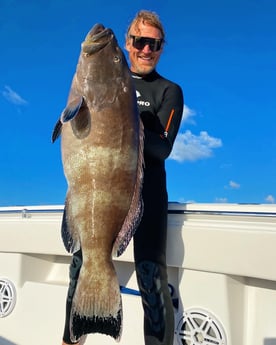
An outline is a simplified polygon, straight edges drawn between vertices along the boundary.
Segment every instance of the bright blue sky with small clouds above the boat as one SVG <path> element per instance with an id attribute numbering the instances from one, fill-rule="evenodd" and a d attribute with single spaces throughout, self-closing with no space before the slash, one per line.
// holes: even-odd
<path id="1" fill-rule="evenodd" d="M 166 162 L 169 200 L 275 203 L 274 0 L 1 0 L 0 206 L 64 202 L 51 133 L 80 44 L 103 23 L 123 47 L 140 9 L 160 15 L 167 43 L 157 69 L 185 97 Z"/>

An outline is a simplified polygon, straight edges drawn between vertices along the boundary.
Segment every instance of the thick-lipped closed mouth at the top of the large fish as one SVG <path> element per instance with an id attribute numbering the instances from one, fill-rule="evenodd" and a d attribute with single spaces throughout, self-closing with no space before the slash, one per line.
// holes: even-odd
<path id="1" fill-rule="evenodd" d="M 113 37 L 111 29 L 105 28 L 102 24 L 95 24 L 81 45 L 82 50 L 86 54 L 94 54 L 104 48 Z"/>

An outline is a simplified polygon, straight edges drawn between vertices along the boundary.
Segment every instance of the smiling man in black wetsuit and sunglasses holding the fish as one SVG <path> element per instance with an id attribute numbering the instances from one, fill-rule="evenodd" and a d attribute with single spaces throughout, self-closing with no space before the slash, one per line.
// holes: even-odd
<path id="1" fill-rule="evenodd" d="M 130 70 L 144 124 L 144 214 L 134 235 L 137 281 L 144 308 L 145 345 L 172 345 L 174 312 L 166 266 L 165 159 L 172 151 L 182 112 L 181 88 L 156 72 L 165 33 L 159 17 L 140 11 L 126 35 Z"/>

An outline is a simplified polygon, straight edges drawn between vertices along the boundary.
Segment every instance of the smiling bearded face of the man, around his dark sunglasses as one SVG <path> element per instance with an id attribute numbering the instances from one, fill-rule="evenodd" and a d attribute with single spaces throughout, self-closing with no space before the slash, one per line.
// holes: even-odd
<path id="1" fill-rule="evenodd" d="M 137 26 L 132 26 L 129 30 L 129 36 L 147 37 L 153 39 L 162 39 L 161 32 L 157 28 L 147 25 L 146 23 L 138 23 Z M 150 73 L 160 58 L 162 53 L 161 49 L 153 51 L 150 47 L 149 42 L 146 41 L 144 47 L 133 46 L 133 41 L 135 39 L 132 37 L 127 37 L 126 39 L 126 50 L 129 52 L 130 69 L 134 73 L 145 75 Z M 143 45 L 143 44 L 142 44 Z"/>

